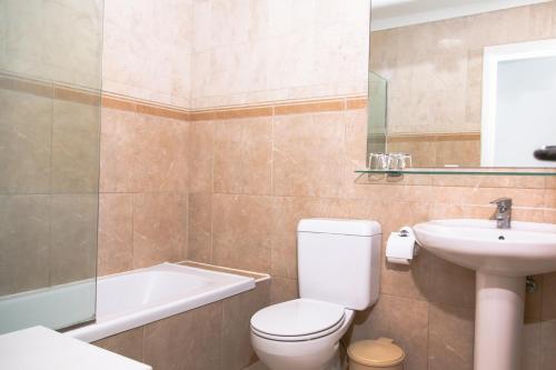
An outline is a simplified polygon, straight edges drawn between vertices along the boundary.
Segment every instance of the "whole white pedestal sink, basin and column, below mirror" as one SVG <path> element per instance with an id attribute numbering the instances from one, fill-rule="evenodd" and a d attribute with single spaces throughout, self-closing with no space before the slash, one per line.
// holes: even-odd
<path id="1" fill-rule="evenodd" d="M 419 244 L 477 271 L 475 370 L 519 370 L 525 277 L 556 270 L 556 224 L 436 220 L 416 224 Z"/>

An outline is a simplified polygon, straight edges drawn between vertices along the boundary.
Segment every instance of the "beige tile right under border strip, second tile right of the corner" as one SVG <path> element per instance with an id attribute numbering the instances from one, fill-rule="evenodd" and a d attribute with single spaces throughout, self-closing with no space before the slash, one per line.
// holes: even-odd
<path id="1" fill-rule="evenodd" d="M 271 118 L 215 122 L 215 192 L 270 194 Z"/>

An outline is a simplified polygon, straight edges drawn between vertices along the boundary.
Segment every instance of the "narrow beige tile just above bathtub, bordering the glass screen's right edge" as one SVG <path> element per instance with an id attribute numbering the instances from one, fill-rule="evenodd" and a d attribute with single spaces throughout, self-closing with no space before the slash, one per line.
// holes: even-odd
<path id="1" fill-rule="evenodd" d="M 101 193 L 99 196 L 98 274 L 132 269 L 133 196 Z"/>

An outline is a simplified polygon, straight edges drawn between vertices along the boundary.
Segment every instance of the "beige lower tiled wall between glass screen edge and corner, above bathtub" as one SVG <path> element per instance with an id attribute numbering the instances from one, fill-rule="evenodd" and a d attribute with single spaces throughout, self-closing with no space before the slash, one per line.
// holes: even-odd
<path id="1" fill-rule="evenodd" d="M 152 107 L 140 112 L 107 99 L 103 106 L 99 276 L 182 260 L 189 122 Z"/>

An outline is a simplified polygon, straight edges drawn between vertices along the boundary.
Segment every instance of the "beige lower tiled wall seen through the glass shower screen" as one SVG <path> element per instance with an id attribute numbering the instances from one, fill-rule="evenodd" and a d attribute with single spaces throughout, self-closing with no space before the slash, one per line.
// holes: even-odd
<path id="1" fill-rule="evenodd" d="M 95 277 L 100 98 L 0 76 L 0 296 Z"/>

